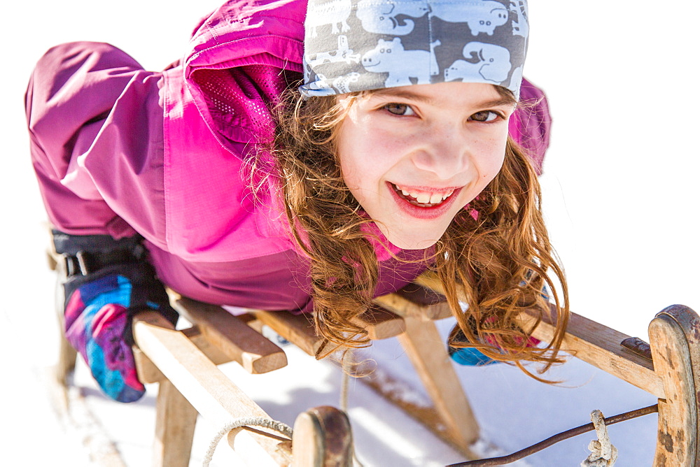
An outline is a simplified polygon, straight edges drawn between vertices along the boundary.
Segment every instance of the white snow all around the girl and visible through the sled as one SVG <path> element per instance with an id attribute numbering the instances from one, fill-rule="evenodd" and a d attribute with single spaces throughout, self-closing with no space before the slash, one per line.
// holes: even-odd
<path id="1" fill-rule="evenodd" d="M 51 408 L 46 382 L 57 350 L 53 278 L 45 266 L 45 215 L 22 113 L 31 67 L 51 45 L 94 40 L 114 43 L 146 68 L 160 69 L 181 55 L 190 29 L 217 3 L 38 0 L 3 6 L 3 465 L 90 466 L 84 442 L 92 440 L 93 450 L 98 445 L 109 450 L 113 443 L 125 465 L 147 466 L 155 423 L 155 388 L 139 403 L 112 403 L 99 394 L 81 364 L 75 376 L 79 389 L 71 393 L 75 419 L 60 421 Z M 694 143 L 700 99 L 692 86 L 696 71 L 689 53 L 696 43 L 694 17 L 602 0 L 584 6 L 533 1 L 530 14 L 526 76 L 546 90 L 554 115 L 541 180 L 544 209 L 566 267 L 572 308 L 646 340 L 648 322 L 665 306 L 683 303 L 700 310 L 695 266 L 700 262 L 700 154 Z M 447 320 L 440 322 L 443 333 L 449 326 Z M 268 375 L 245 375 L 235 364 L 223 369 L 264 410 L 288 424 L 309 407 L 338 405 L 338 368 L 293 347 L 286 350 L 288 368 Z M 368 352 L 380 368 L 412 385 L 407 398 L 426 400 L 395 339 L 376 343 Z M 543 385 L 503 365 L 456 371 L 482 429 L 476 449 L 487 455 L 509 454 L 585 424 L 594 409 L 609 416 L 655 402 L 576 359 L 547 375 L 563 380 L 559 386 Z M 367 466 L 440 466 L 464 460 L 361 382 L 351 384 L 349 414 L 358 457 Z M 198 424 L 190 465 L 201 464 L 218 428 Z M 617 465 L 651 465 L 655 436 L 655 415 L 611 426 Z M 520 465 L 578 465 L 593 437 L 571 438 Z M 222 448 L 211 465 L 234 461 Z"/>

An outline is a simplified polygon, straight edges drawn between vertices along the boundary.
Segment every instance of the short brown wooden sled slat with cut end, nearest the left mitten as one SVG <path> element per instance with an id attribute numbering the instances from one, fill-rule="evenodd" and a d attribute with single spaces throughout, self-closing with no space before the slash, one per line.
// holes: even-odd
<path id="1" fill-rule="evenodd" d="M 287 364 L 284 351 L 220 306 L 171 294 L 173 308 L 196 324 L 209 342 L 248 373 L 267 373 Z"/>

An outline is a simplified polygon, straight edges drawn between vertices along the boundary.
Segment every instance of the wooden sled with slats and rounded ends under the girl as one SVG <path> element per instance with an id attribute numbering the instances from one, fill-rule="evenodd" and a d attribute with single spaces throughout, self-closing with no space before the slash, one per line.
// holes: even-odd
<path id="1" fill-rule="evenodd" d="M 398 337 L 434 403 L 430 413 L 403 408 L 473 459 L 469 446 L 478 438 L 478 425 L 433 323 L 449 316 L 439 292 L 435 278 L 423 275 L 376 299 L 360 319 L 373 340 Z M 291 438 L 281 435 L 274 419 L 216 368 L 228 361 L 249 373 L 285 366 L 283 350 L 259 332 L 263 324 L 314 355 L 321 341 L 309 317 L 261 310 L 235 317 L 174 293 L 171 299 L 191 328 L 175 331 L 155 312 L 134 319 L 139 378 L 160 382 L 153 466 L 188 465 L 197 413 L 215 426 L 230 426 L 223 436 L 249 465 L 352 465 L 351 429 L 342 411 L 307 410 L 297 417 Z M 523 326 L 534 319 L 521 315 Z M 533 336 L 547 340 L 553 329 L 545 315 Z M 649 335 L 647 344 L 572 313 L 562 349 L 659 398 L 654 466 L 700 465 L 700 318 L 690 308 L 671 306 L 652 320 Z M 60 352 L 57 377 L 65 384 L 76 352 L 66 342 Z"/>

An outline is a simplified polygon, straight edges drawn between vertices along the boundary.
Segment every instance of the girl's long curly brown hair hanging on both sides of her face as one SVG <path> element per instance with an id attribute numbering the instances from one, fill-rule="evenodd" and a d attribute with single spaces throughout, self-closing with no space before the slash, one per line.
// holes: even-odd
<path id="1" fill-rule="evenodd" d="M 507 89 L 496 89 L 512 98 Z M 338 348 L 370 345 L 367 331 L 353 318 L 371 305 L 377 285 L 377 256 L 362 228 L 372 220 L 346 187 L 336 155 L 339 127 L 351 105 L 339 105 L 335 96 L 304 100 L 288 92 L 278 106 L 273 157 L 268 159 L 276 161 L 290 235 L 311 259 L 316 328 L 326 342 L 318 358 Z M 521 361 L 542 362 L 539 373 L 561 361 L 558 351 L 568 322 L 566 280 L 542 220 L 537 175 L 510 136 L 500 173 L 456 215 L 422 261 L 437 273 L 457 319 L 451 345 L 477 347 L 538 380 Z M 528 345 L 532 329 L 522 329 L 516 317 L 525 309 L 549 310 L 545 286 L 558 316 L 552 342 L 540 348 Z M 466 341 L 458 338 L 458 329 Z"/>

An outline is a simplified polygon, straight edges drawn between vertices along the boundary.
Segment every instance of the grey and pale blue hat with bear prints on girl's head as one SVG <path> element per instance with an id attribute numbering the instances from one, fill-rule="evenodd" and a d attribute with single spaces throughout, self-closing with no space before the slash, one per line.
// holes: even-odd
<path id="1" fill-rule="evenodd" d="M 309 0 L 304 96 L 434 82 L 484 82 L 516 99 L 526 0 Z"/>

